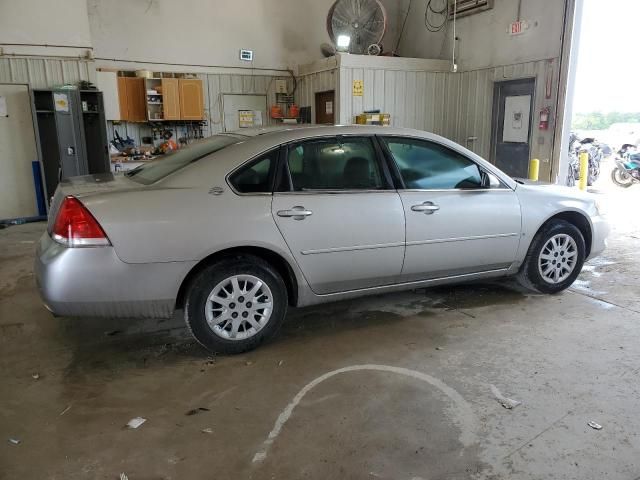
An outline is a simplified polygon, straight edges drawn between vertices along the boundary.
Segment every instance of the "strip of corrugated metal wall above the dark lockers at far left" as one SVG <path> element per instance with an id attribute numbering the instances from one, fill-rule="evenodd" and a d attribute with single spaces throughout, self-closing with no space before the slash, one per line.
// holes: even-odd
<path id="1" fill-rule="evenodd" d="M 56 58 L 0 57 L 0 83 L 27 83 L 31 88 L 51 88 L 96 81 L 95 63 Z"/>

